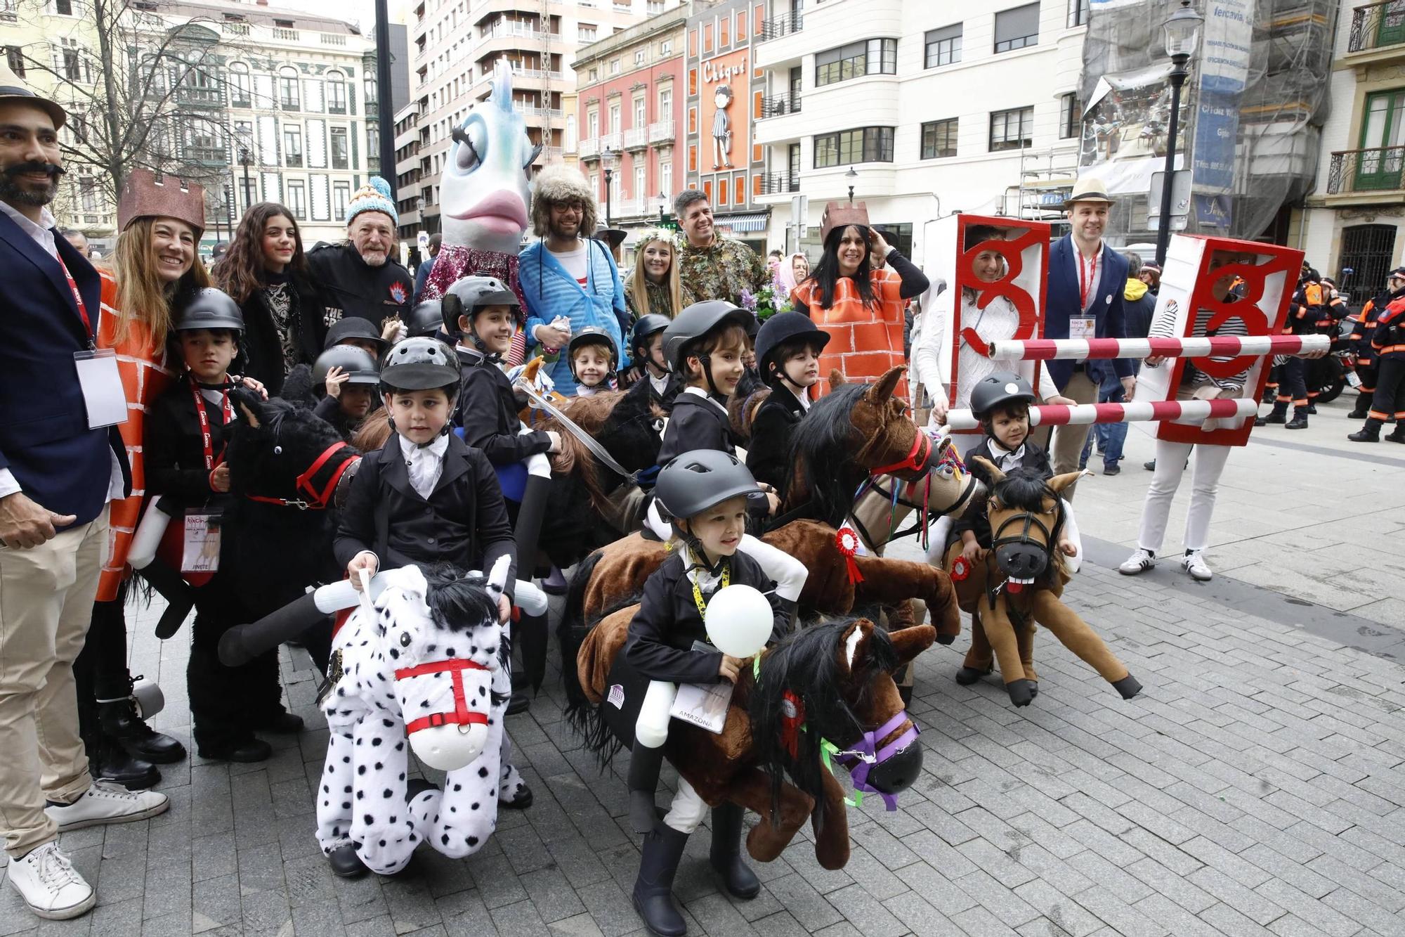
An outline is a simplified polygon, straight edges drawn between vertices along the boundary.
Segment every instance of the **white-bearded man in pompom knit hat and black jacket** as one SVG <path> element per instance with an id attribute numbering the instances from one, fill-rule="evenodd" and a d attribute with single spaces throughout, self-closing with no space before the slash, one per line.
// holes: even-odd
<path id="1" fill-rule="evenodd" d="M 350 315 L 370 319 L 378 329 L 392 315 L 409 319 L 414 280 L 395 256 L 399 224 L 389 184 L 371 176 L 347 204 L 347 241 L 319 243 L 308 252 L 308 266 L 327 310 L 322 335 Z"/>

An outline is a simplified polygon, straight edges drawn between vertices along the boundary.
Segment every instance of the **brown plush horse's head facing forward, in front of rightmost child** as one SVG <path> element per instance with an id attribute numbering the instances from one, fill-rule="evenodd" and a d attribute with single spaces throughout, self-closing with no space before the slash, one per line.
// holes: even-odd
<path id="1" fill-rule="evenodd" d="M 1057 550 L 1064 526 L 1064 488 L 1082 473 L 1069 471 L 1045 480 L 1033 468 L 1000 471 L 985 456 L 976 456 L 991 473 L 992 488 L 986 502 L 991 519 L 991 549 L 1009 588 L 1020 591 L 1033 585 L 1044 573 L 1062 570 Z"/>

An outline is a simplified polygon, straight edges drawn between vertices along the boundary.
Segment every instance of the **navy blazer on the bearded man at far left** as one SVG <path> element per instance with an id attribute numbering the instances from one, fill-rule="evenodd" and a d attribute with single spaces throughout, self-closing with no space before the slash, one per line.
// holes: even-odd
<path id="1" fill-rule="evenodd" d="M 103 280 L 69 242 L 55 236 L 63 266 L 83 297 L 93 329 L 103 308 Z M 89 429 L 73 353 L 91 345 L 63 267 L 10 215 L 0 212 L 0 468 L 24 494 L 74 526 L 103 512 L 112 481 L 112 453 L 125 490 L 132 474 L 117 426 Z"/>

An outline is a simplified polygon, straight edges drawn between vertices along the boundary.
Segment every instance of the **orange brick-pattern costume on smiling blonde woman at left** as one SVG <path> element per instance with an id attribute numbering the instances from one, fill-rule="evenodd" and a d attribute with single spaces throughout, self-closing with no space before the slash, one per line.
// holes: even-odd
<path id="1" fill-rule="evenodd" d="M 156 398 L 170 387 L 176 374 L 167 367 L 166 349 L 156 348 L 152 333 L 143 322 L 132 321 L 126 339 L 117 343 L 117 326 L 121 312 L 117 310 L 117 280 L 105 270 L 103 273 L 103 311 L 97 322 L 97 346 L 117 352 L 117 370 L 122 376 L 122 390 L 126 393 L 126 422 L 121 425 L 122 445 L 126 446 L 126 460 L 132 466 L 132 494 L 114 499 L 108 530 L 107 563 L 97 584 L 97 601 L 111 602 L 117 588 L 126 578 L 126 552 L 132 546 L 132 533 L 142 519 L 142 504 L 146 501 L 146 473 L 142 466 L 142 431 L 146 414 Z"/>

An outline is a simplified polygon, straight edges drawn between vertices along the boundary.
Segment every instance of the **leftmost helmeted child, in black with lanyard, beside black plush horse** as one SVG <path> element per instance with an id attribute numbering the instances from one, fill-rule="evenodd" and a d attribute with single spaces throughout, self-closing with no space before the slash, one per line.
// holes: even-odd
<path id="1" fill-rule="evenodd" d="M 174 338 L 185 363 L 185 380 L 156 401 L 143 443 L 146 491 L 162 497 L 163 509 L 177 508 L 174 514 L 164 511 L 177 523 L 190 512 L 207 515 L 218 528 L 214 518 L 233 506 L 225 461 L 235 426 L 229 391 L 236 383 L 229 367 L 243 329 L 239 305 L 212 287 L 197 290 L 177 312 Z M 219 639 L 239 623 L 228 612 L 229 588 L 216 566 L 214 577 L 195 589 L 187 665 L 192 734 L 202 758 L 263 761 L 273 748 L 254 730 L 296 732 L 302 720 L 280 703 L 275 651 L 242 667 L 219 661 Z"/>

